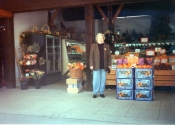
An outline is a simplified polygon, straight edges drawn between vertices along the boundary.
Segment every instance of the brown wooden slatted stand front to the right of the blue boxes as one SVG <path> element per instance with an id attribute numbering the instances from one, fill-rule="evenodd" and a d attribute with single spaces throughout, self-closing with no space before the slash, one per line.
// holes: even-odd
<path id="1" fill-rule="evenodd" d="M 175 86 L 175 70 L 154 70 L 154 86 Z"/>

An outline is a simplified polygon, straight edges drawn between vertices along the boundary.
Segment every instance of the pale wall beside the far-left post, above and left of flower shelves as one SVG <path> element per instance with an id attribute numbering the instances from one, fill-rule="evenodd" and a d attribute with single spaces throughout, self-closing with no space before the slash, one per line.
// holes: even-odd
<path id="1" fill-rule="evenodd" d="M 15 43 L 15 75 L 16 75 L 16 86 L 20 86 L 19 76 L 20 70 L 17 65 L 17 60 L 22 58 L 22 53 L 19 52 L 19 37 L 24 31 L 32 30 L 33 26 L 37 26 L 38 30 L 44 24 L 48 23 L 47 11 L 36 11 L 36 12 L 25 12 L 14 14 L 14 43 Z"/>

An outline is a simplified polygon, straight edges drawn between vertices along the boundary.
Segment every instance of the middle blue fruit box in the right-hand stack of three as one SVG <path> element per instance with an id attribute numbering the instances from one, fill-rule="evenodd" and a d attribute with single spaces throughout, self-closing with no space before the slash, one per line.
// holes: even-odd
<path id="1" fill-rule="evenodd" d="M 153 79 L 135 79 L 135 89 L 149 89 L 153 90 Z"/>

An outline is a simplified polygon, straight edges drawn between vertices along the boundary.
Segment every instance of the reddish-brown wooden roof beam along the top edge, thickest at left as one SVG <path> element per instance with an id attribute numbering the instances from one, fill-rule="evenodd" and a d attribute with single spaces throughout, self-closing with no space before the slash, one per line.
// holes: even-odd
<path id="1" fill-rule="evenodd" d="M 0 0 L 0 8 L 17 13 L 47 10 L 51 8 L 68 8 L 92 5 L 117 5 L 121 3 L 138 3 L 158 0 Z M 160 0 L 159 0 L 160 1 Z"/>

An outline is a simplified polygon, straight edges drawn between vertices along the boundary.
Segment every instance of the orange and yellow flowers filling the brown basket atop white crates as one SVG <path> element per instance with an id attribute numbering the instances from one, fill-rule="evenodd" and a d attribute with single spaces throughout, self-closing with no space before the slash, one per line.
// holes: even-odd
<path id="1" fill-rule="evenodd" d="M 86 68 L 86 65 L 84 65 L 81 62 L 74 62 L 74 63 L 69 63 L 67 68 L 68 69 L 81 69 L 81 70 L 83 70 L 84 68 Z"/>

